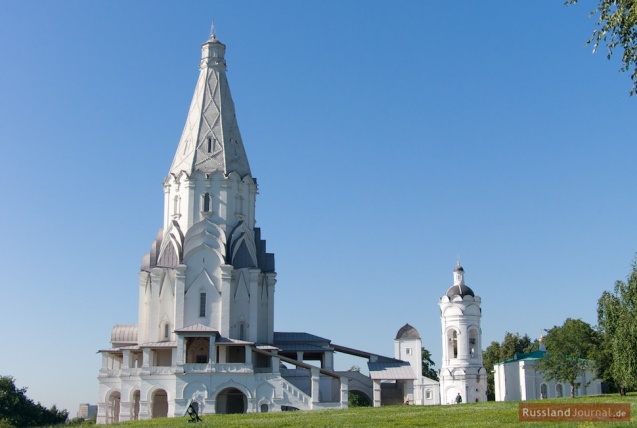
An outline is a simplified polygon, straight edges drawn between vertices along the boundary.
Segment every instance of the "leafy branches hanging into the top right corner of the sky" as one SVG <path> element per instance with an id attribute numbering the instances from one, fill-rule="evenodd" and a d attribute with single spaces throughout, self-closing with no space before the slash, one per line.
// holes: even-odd
<path id="1" fill-rule="evenodd" d="M 579 0 L 567 0 L 566 4 L 578 3 Z M 606 44 L 606 57 L 610 59 L 615 49 L 620 46 L 622 67 L 620 71 L 631 72 L 633 87 L 630 95 L 637 93 L 637 0 L 598 0 L 592 15 L 599 13 L 598 28 L 586 42 L 593 43 L 593 52 L 601 43 Z"/>

